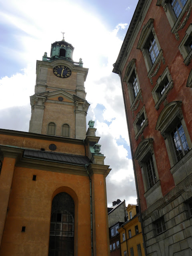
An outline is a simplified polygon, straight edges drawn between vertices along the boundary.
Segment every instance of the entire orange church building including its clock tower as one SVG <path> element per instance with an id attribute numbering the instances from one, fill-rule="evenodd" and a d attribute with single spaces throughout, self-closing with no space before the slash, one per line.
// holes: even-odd
<path id="1" fill-rule="evenodd" d="M 110 168 L 73 51 L 63 37 L 37 60 L 29 132 L 0 129 L 1 256 L 110 255 Z"/>

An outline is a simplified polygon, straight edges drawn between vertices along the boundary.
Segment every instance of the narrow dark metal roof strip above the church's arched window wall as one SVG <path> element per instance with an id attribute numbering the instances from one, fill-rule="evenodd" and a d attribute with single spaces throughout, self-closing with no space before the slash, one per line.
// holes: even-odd
<path id="1" fill-rule="evenodd" d="M 47 160 L 52 162 L 61 162 L 67 164 L 76 164 L 85 166 L 86 164 L 90 164 L 90 160 L 87 156 L 76 156 L 70 154 L 62 154 L 56 152 L 47 152 L 41 150 L 24 150 L 24 157 L 26 158 L 34 158 L 40 160 Z"/>

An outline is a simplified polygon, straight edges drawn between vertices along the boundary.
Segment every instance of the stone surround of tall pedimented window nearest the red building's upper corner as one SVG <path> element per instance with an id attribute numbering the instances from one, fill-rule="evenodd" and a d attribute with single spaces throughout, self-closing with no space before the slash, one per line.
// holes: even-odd
<path id="1" fill-rule="evenodd" d="M 138 83 L 138 88 L 139 88 L 139 92 L 138 92 L 136 98 L 134 98 L 134 94 L 133 94 L 133 91 L 132 91 L 132 84 L 130 82 L 130 78 L 132 77 L 133 72 L 136 75 L 137 83 Z M 131 105 L 131 108 L 132 108 L 132 106 L 135 105 L 135 103 L 137 102 L 137 100 L 138 100 L 138 98 L 139 98 L 139 96 L 141 94 L 138 74 L 137 74 L 137 71 L 136 71 L 136 59 L 132 59 L 129 62 L 129 64 L 128 64 L 127 68 L 126 68 L 126 72 L 125 72 L 125 76 L 123 78 L 123 82 L 126 82 L 126 84 L 127 84 L 128 93 L 129 93 L 129 99 L 130 99 L 130 105 Z"/>

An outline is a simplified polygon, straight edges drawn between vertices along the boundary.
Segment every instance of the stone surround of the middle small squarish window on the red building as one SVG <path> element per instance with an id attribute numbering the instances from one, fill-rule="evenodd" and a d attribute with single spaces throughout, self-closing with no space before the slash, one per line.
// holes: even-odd
<path id="1" fill-rule="evenodd" d="M 157 92 L 158 91 L 158 88 L 160 88 L 160 86 L 162 86 L 162 82 L 164 80 L 164 78 L 167 76 L 168 78 L 168 81 L 169 81 L 169 85 L 168 87 L 166 88 L 166 90 L 164 91 L 164 93 L 162 94 L 162 96 L 160 97 L 159 96 L 159 93 Z M 155 102 L 155 108 L 156 110 L 158 110 L 161 102 L 163 100 L 166 99 L 166 96 L 168 94 L 168 92 L 172 89 L 173 87 L 173 80 L 172 80 L 172 77 L 171 77 L 171 74 L 170 74 L 170 71 L 169 71 L 169 68 L 168 66 L 165 68 L 164 72 L 162 73 L 162 75 L 160 75 L 157 79 L 157 83 L 156 85 L 154 86 L 153 90 L 152 90 L 152 96 L 154 98 L 154 102 Z"/>

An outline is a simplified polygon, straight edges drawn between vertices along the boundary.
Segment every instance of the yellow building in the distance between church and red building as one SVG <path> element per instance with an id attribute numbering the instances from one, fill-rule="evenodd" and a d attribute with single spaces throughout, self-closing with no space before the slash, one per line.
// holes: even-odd
<path id="1" fill-rule="evenodd" d="M 120 226 L 121 256 L 144 256 L 141 224 L 137 204 L 128 204 L 128 220 Z"/>

